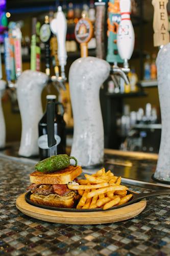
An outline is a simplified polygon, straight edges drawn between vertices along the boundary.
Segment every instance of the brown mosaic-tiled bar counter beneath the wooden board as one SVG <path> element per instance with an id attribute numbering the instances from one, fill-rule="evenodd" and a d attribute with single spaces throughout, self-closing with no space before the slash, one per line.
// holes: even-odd
<path id="1" fill-rule="evenodd" d="M 114 157 L 113 169 L 133 166 L 134 158 Z M 121 165 L 121 161 L 122 165 Z M 111 158 L 110 158 L 111 161 Z M 113 161 L 113 159 L 112 159 Z M 141 173 L 152 173 L 156 160 L 138 159 Z M 103 225 L 54 224 L 23 215 L 15 207 L 16 198 L 25 193 L 30 184 L 29 174 L 34 161 L 0 156 L 1 209 L 0 254 L 2 255 L 169 255 L 170 254 L 170 196 L 147 200 L 147 207 L 136 218 Z M 130 164 L 129 164 L 130 165 Z M 111 163 L 106 164 L 106 168 Z M 135 167 L 136 168 L 136 167 Z M 129 171 L 127 171 L 129 172 Z M 127 174 L 128 175 L 128 174 Z M 147 175 L 146 175 L 147 176 Z M 125 179 L 125 183 L 128 180 Z M 149 184 L 149 183 L 148 183 Z M 128 185 L 137 192 L 149 192 L 162 187 L 148 185 L 143 188 Z M 166 187 L 167 188 L 167 187 Z"/>

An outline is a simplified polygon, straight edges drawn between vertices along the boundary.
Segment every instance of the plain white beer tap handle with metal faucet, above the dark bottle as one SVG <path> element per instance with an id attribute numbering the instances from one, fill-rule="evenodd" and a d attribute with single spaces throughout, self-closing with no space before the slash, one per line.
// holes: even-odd
<path id="1" fill-rule="evenodd" d="M 61 76 L 58 76 L 58 69 L 56 66 L 55 68 L 56 76 L 52 76 L 51 79 L 52 81 L 59 83 L 59 85 L 63 89 L 65 89 L 65 85 L 64 85 L 66 81 L 65 65 L 66 65 L 66 59 L 67 59 L 65 40 L 66 40 L 67 22 L 61 6 L 58 6 L 56 18 L 54 18 L 50 23 L 50 28 L 53 34 L 55 34 L 57 37 L 57 42 L 58 42 L 57 55 L 59 60 L 59 66 L 61 68 Z"/>

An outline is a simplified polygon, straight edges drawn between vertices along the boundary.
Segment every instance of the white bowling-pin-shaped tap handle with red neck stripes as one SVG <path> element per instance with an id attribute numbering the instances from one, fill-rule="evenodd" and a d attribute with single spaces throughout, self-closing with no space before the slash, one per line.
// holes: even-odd
<path id="1" fill-rule="evenodd" d="M 120 0 L 121 21 L 117 33 L 117 49 L 122 59 L 128 60 L 131 58 L 135 34 L 133 25 L 130 19 L 131 0 Z"/>

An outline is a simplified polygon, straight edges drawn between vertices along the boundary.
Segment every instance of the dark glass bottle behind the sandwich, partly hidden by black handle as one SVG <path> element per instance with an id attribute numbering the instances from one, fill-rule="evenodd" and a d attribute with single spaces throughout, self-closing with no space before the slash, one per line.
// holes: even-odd
<path id="1" fill-rule="evenodd" d="M 47 102 L 54 101 L 56 102 L 56 95 L 47 95 Z M 56 112 L 55 112 L 55 124 L 54 124 L 54 132 L 55 139 L 57 141 L 57 154 L 65 154 L 65 146 L 66 146 L 66 130 L 65 130 L 65 121 L 63 119 L 64 108 L 62 103 L 56 102 Z M 38 146 L 39 146 L 39 156 L 40 159 L 43 160 L 47 157 L 50 157 L 50 150 L 48 148 L 47 143 L 47 120 L 46 120 L 46 111 L 39 121 L 38 124 Z"/>

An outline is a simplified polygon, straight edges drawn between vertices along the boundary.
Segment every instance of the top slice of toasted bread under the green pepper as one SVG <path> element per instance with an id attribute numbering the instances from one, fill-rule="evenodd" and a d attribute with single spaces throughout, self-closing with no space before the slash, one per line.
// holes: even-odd
<path id="1" fill-rule="evenodd" d="M 82 167 L 69 165 L 54 173 L 34 172 L 30 174 L 31 183 L 35 184 L 67 184 L 82 173 Z"/>

